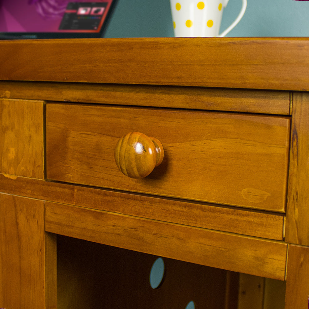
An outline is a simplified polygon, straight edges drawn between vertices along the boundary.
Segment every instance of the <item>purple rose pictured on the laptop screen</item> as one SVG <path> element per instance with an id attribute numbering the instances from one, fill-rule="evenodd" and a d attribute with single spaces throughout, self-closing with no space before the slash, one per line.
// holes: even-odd
<path id="1" fill-rule="evenodd" d="M 44 19 L 61 18 L 68 2 L 70 0 L 28 0 L 28 4 L 34 4 Z"/>

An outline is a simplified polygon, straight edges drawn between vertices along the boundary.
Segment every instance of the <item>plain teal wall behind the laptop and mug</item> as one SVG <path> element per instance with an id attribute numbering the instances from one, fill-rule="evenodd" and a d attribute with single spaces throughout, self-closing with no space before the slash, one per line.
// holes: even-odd
<path id="1" fill-rule="evenodd" d="M 227 36 L 308 36 L 309 1 L 247 0 L 241 21 Z M 242 0 L 230 0 L 221 31 L 236 18 Z M 118 0 L 104 37 L 174 36 L 169 0 Z"/>

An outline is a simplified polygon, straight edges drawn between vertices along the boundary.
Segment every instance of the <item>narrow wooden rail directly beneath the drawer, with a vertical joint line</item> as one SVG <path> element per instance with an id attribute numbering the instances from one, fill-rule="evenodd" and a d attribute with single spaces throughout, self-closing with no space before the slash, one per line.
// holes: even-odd
<path id="1" fill-rule="evenodd" d="M 283 239 L 284 215 L 0 175 L 3 192 L 269 239 Z"/>

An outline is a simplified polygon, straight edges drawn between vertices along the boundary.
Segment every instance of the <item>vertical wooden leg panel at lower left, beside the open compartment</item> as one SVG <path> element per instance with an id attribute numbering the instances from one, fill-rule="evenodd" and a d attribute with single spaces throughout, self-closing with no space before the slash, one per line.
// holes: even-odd
<path id="1" fill-rule="evenodd" d="M 53 245 L 44 238 L 44 202 L 0 194 L 0 222 L 0 307 L 45 308 L 46 293 L 46 308 L 55 308 L 55 278 L 45 284 L 56 256 L 45 260 L 45 244 Z"/>

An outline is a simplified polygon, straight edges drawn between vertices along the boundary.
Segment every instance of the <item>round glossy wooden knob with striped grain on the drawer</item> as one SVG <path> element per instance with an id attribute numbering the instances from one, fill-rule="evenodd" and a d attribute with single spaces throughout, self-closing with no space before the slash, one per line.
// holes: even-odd
<path id="1" fill-rule="evenodd" d="M 123 136 L 115 148 L 115 161 L 120 171 L 130 178 L 148 176 L 164 156 L 158 139 L 143 133 L 131 132 Z"/>

